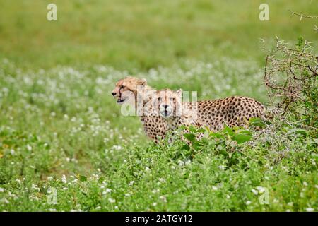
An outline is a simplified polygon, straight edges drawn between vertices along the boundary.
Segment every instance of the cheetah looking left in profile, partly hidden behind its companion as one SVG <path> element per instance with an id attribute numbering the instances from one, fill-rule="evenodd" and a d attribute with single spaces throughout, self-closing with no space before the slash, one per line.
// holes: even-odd
<path id="1" fill-rule="evenodd" d="M 137 105 L 137 103 L 139 103 L 138 88 L 143 89 L 143 97 L 140 98 L 140 108 Z M 112 96 L 117 99 L 119 105 L 127 102 L 136 108 L 146 135 L 155 141 L 155 143 L 159 143 L 160 138 L 163 138 L 167 132 L 167 124 L 162 117 L 149 112 L 149 110 L 152 110 L 151 108 L 146 107 L 149 105 L 149 101 L 155 93 L 156 90 L 147 85 L 146 79 L 131 76 L 117 81 L 114 90 L 112 90 Z"/>

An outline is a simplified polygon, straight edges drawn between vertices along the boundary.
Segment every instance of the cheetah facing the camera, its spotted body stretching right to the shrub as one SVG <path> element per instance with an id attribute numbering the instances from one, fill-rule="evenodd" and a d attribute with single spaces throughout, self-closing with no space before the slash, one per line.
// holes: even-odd
<path id="1" fill-rule="evenodd" d="M 182 102 L 182 90 L 165 89 L 157 91 L 153 98 L 155 107 L 170 130 L 178 129 L 181 125 L 194 125 L 218 131 L 223 129 L 224 124 L 230 127 L 246 126 L 248 119 L 264 114 L 264 106 L 249 97 Z"/>

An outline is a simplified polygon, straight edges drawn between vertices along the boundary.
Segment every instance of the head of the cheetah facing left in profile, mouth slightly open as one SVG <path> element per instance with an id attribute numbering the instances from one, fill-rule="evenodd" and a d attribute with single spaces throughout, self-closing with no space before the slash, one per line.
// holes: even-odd
<path id="1" fill-rule="evenodd" d="M 117 81 L 114 90 L 112 90 L 112 95 L 117 99 L 118 104 L 123 104 L 124 102 L 135 103 L 137 89 L 146 87 L 146 84 L 146 79 L 129 76 Z"/>

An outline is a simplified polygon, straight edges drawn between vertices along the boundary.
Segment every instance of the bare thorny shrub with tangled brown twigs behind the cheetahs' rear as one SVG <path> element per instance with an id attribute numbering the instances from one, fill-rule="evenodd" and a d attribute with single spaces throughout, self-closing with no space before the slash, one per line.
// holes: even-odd
<path id="1" fill-rule="evenodd" d="M 264 84 L 281 114 L 290 112 L 317 126 L 318 57 L 312 52 L 302 37 L 295 47 L 276 37 L 276 47 L 266 57 Z"/>

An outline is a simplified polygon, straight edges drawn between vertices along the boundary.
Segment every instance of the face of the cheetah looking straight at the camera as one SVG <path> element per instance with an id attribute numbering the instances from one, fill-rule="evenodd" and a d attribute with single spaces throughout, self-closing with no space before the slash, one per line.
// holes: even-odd
<path id="1" fill-rule="evenodd" d="M 154 98 L 154 106 L 163 118 L 177 117 L 182 107 L 182 90 L 159 90 Z"/>

